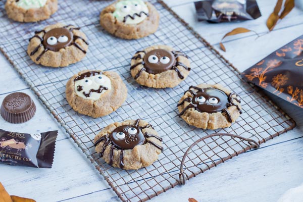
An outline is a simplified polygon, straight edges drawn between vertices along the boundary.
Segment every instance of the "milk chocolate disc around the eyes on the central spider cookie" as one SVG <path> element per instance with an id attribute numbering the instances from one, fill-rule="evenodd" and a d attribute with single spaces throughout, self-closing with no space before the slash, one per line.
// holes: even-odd
<path id="1" fill-rule="evenodd" d="M 157 63 L 150 63 L 148 62 L 149 57 L 158 57 L 158 62 Z M 163 64 L 161 63 L 160 59 L 163 57 L 168 57 L 169 58 L 169 63 Z M 173 67 L 173 65 L 176 64 L 176 58 L 172 54 L 172 52 L 169 52 L 165 49 L 155 49 L 153 51 L 148 52 L 144 56 L 144 67 L 145 71 L 150 73 L 150 74 L 159 74 L 161 72 L 165 72 Z"/>

